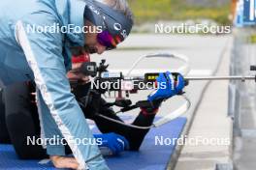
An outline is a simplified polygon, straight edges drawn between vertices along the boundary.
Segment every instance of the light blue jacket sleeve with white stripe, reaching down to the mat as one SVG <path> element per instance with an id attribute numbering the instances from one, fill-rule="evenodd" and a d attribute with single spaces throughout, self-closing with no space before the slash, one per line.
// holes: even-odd
<path id="1" fill-rule="evenodd" d="M 51 20 L 50 14 L 48 24 Z M 34 24 L 34 22 L 33 22 Z M 71 93 L 62 56 L 60 33 L 26 33 L 27 23 L 16 23 L 16 40 L 24 51 L 26 60 L 34 73 L 37 88 L 42 95 L 42 118 L 46 136 L 58 135 L 58 130 L 67 140 L 80 168 L 108 169 L 98 147 L 78 145 L 76 139 L 93 138 L 82 115 L 80 106 Z M 53 124 L 55 123 L 55 124 Z M 56 126 L 57 125 L 57 126 Z M 56 129 L 58 128 L 58 129 Z M 48 145 L 48 154 L 63 155 L 63 147 Z M 86 164 L 85 164 L 86 163 Z"/>

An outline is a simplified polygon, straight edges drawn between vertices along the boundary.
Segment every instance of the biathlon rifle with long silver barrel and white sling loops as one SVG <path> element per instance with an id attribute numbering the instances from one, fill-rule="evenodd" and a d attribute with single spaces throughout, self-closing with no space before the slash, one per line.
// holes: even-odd
<path id="1" fill-rule="evenodd" d="M 182 68 L 184 71 L 183 74 L 186 74 L 189 71 L 188 66 L 188 59 L 182 55 L 175 55 L 175 54 L 169 54 L 169 53 L 157 53 L 157 54 L 150 54 L 146 55 L 144 57 L 150 58 L 150 57 L 171 57 L 179 59 L 186 63 L 186 66 Z M 133 65 L 132 69 L 134 69 L 138 63 L 144 58 L 141 57 L 139 60 Z M 156 88 L 155 82 L 156 78 L 159 76 L 160 72 L 145 72 L 143 75 L 136 75 L 136 76 L 130 76 L 129 74 L 131 71 L 128 71 L 128 73 L 124 73 L 122 71 L 108 71 L 109 65 L 106 64 L 106 60 L 102 60 L 97 66 L 96 62 L 86 62 L 83 63 L 80 67 L 80 72 L 86 76 L 93 77 L 93 81 L 91 82 L 91 88 L 95 91 L 97 91 L 101 95 L 108 95 L 109 98 L 114 98 L 115 101 L 112 103 L 107 103 L 108 106 L 118 106 L 121 107 L 120 111 L 118 112 L 126 112 L 138 107 L 146 107 L 152 103 L 150 103 L 147 100 L 140 100 L 137 101 L 135 104 L 132 104 L 132 101 L 129 99 L 130 94 L 137 94 L 138 91 L 141 90 L 152 90 Z M 250 71 L 256 71 L 256 66 L 251 66 Z M 175 80 L 177 72 L 172 72 Z M 189 84 L 190 81 L 202 81 L 202 80 L 254 80 L 256 82 L 256 75 L 233 75 L 233 76 L 184 76 L 185 79 L 185 86 Z M 79 85 L 79 81 L 71 81 L 71 86 L 76 87 Z M 102 86 L 101 86 L 102 85 Z M 113 94 L 113 96 L 112 96 Z M 169 118 L 167 118 L 164 121 L 160 121 L 159 124 L 155 124 L 151 127 L 158 127 L 160 125 L 163 125 L 170 120 L 175 119 L 176 117 L 182 115 L 185 113 L 191 103 L 190 100 L 185 97 L 184 92 L 181 92 L 180 96 L 182 96 L 187 102 L 183 104 L 180 108 L 178 108 L 175 113 L 170 114 Z M 156 100 L 155 102 L 158 102 Z M 118 113 L 116 112 L 116 113 Z"/>

